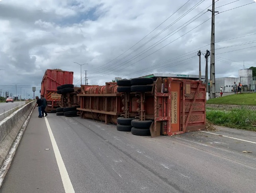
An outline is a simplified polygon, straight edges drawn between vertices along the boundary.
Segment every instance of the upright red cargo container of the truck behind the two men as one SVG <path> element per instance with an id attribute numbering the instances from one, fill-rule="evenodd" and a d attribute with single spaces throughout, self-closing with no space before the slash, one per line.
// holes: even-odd
<path id="1" fill-rule="evenodd" d="M 41 95 L 47 101 L 46 112 L 55 111 L 61 100 L 61 94 L 57 94 L 57 86 L 73 84 L 73 72 L 47 69 L 41 82 Z"/>

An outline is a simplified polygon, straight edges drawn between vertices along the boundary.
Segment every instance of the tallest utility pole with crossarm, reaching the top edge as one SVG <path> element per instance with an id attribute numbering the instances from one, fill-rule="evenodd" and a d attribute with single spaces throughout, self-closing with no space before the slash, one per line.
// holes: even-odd
<path id="1" fill-rule="evenodd" d="M 211 11 L 211 65 L 210 65 L 210 96 L 215 98 L 215 0 L 213 0 Z"/>

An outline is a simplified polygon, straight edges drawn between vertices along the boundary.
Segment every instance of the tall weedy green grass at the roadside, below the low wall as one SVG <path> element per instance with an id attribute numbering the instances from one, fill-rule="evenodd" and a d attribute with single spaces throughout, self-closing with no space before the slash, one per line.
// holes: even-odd
<path id="1" fill-rule="evenodd" d="M 256 131 L 256 111 L 246 108 L 229 111 L 207 108 L 206 118 L 215 125 Z"/>

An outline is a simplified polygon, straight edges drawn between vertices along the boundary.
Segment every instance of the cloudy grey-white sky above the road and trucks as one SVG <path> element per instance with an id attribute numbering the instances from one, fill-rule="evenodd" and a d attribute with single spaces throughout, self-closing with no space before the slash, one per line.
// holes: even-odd
<path id="1" fill-rule="evenodd" d="M 23 98 L 33 95 L 35 86 L 39 95 L 46 69 L 72 71 L 74 85 L 80 86 L 76 63 L 86 63 L 82 84 L 85 72 L 94 85 L 152 73 L 197 75 L 197 51 L 211 50 L 211 4 L 0 0 L 0 89 L 16 96 L 17 86 Z M 254 0 L 215 0 L 216 78 L 237 77 L 239 69 L 256 67 L 255 10 Z M 203 55 L 201 61 L 204 75 Z"/>

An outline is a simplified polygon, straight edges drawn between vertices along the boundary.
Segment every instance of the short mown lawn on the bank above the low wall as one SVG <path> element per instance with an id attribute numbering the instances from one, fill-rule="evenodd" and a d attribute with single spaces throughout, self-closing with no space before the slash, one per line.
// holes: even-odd
<path id="1" fill-rule="evenodd" d="M 242 93 L 210 99 L 206 104 L 256 106 L 256 93 Z"/>

